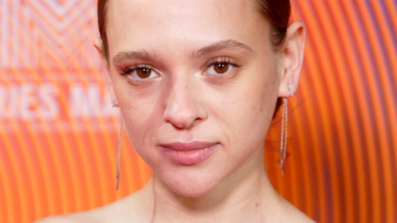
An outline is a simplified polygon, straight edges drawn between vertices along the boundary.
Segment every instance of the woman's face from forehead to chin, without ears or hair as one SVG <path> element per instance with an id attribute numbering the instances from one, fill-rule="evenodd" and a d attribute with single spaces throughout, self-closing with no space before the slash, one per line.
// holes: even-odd
<path id="1" fill-rule="evenodd" d="M 111 88 L 162 185 L 201 196 L 263 171 L 278 55 L 249 1 L 110 1 Z"/>

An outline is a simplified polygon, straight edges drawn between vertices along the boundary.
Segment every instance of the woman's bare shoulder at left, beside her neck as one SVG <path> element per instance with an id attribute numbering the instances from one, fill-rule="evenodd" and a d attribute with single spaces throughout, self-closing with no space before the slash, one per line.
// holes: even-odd
<path id="1" fill-rule="evenodd" d="M 105 222 L 145 222 L 149 203 L 143 199 L 143 191 L 137 191 L 119 201 L 90 211 L 43 218 L 37 223 L 105 223 Z"/>

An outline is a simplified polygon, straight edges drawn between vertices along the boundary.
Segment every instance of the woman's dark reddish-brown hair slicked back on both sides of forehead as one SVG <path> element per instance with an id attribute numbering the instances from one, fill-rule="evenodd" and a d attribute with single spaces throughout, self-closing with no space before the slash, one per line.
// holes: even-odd
<path id="1" fill-rule="evenodd" d="M 108 43 L 106 37 L 108 0 L 98 0 L 98 28 L 102 39 L 102 50 L 108 59 Z M 257 12 L 270 23 L 270 39 L 275 51 L 279 50 L 286 38 L 287 27 L 291 14 L 290 0 L 254 0 Z"/>

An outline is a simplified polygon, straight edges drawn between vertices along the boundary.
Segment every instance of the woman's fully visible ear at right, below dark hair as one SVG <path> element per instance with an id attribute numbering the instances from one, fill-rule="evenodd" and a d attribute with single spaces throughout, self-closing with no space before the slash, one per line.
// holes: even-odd
<path id="1" fill-rule="evenodd" d="M 288 85 L 291 86 L 294 94 L 298 88 L 305 43 L 305 24 L 299 20 L 292 22 L 288 26 L 286 40 L 281 49 L 282 70 L 278 90 L 279 97 L 289 97 L 291 95 Z"/>

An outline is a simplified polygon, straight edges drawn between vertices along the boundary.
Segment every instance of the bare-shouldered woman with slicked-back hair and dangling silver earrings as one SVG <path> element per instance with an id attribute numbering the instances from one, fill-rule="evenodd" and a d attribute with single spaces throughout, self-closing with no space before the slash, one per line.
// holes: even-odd
<path id="1" fill-rule="evenodd" d="M 47 220 L 310 222 L 264 170 L 277 98 L 296 91 L 303 61 L 305 26 L 289 14 L 289 1 L 100 0 L 106 82 L 153 176 L 120 201 Z"/>

